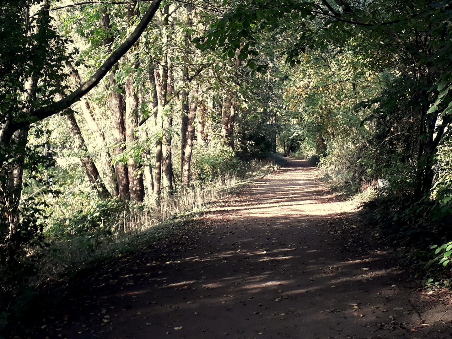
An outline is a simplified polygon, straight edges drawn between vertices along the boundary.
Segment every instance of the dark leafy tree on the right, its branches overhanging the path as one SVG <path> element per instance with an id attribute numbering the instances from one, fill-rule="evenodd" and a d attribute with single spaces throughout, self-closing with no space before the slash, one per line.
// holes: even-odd
<path id="1" fill-rule="evenodd" d="M 407 98 L 418 107 L 414 115 L 419 125 L 416 132 L 411 131 L 410 137 L 412 140 L 419 138 L 414 180 L 416 194 L 422 196 L 428 195 L 432 188 L 435 154 L 441 140 L 448 135 L 446 127 L 451 119 L 446 94 L 450 90 L 452 64 L 445 57 L 450 54 L 451 31 L 445 24 L 449 7 L 446 2 L 424 1 L 381 0 L 352 4 L 343 0 L 334 3 L 328 0 L 256 0 L 236 5 L 198 41 L 202 48 L 221 48 L 225 57 L 233 55 L 240 44 L 245 43 L 242 53 L 249 56 L 254 53 L 250 47 L 255 46 L 259 37 L 270 33 L 286 56 L 286 62 L 295 65 L 301 64 L 310 51 L 336 49 L 340 52 L 350 38 L 363 37 L 363 45 L 353 48 L 369 58 L 369 66 L 378 65 L 384 53 L 387 67 L 394 67 L 416 84 L 411 89 L 406 88 L 408 97 L 402 94 L 402 97 L 390 99 L 390 94 L 400 94 L 392 91 L 386 92 L 385 99 L 378 102 L 391 107 L 395 101 Z M 294 43 L 287 43 L 289 41 Z M 251 60 L 248 65 L 255 67 Z M 369 102 L 366 107 L 371 108 L 376 102 Z"/>

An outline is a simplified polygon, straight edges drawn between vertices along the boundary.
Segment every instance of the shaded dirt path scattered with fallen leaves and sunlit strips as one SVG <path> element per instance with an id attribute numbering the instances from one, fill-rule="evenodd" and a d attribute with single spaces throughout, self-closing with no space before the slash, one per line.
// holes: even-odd
<path id="1" fill-rule="evenodd" d="M 291 160 L 180 234 L 92 272 L 36 339 L 451 338 L 394 249 Z"/>

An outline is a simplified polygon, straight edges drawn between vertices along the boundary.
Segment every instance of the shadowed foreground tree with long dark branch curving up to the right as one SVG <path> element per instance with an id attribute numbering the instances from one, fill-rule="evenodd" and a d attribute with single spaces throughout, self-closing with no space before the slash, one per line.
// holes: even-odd
<path id="1" fill-rule="evenodd" d="M 61 93 L 60 84 L 67 76 L 63 70 L 64 62 L 71 58 L 66 54 L 65 46 L 69 39 L 58 35 L 50 27 L 48 2 L 44 2 L 38 13 L 30 18 L 30 5 L 34 4 L 17 1 L 1 5 L 4 20 L 1 27 L 0 172 L 1 181 L 5 183 L 2 184 L 0 196 L 5 213 L 1 225 L 1 248 L 8 258 L 13 258 L 21 243 L 26 241 L 19 240 L 20 234 L 28 231 L 18 232 L 20 214 L 17 211 L 24 163 L 18 155 L 28 153 L 25 148 L 29 126 L 69 108 L 93 89 L 137 42 L 157 11 L 160 0 L 151 3 L 131 35 L 89 80 L 56 102 L 53 101 L 54 95 Z"/>

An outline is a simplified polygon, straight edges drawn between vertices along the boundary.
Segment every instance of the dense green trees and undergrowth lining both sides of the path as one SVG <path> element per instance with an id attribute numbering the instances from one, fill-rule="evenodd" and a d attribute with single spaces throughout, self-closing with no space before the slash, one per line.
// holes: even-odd
<path id="1" fill-rule="evenodd" d="M 0 328 L 49 246 L 95 251 L 276 151 L 448 243 L 451 3 L 2 2 Z"/>

